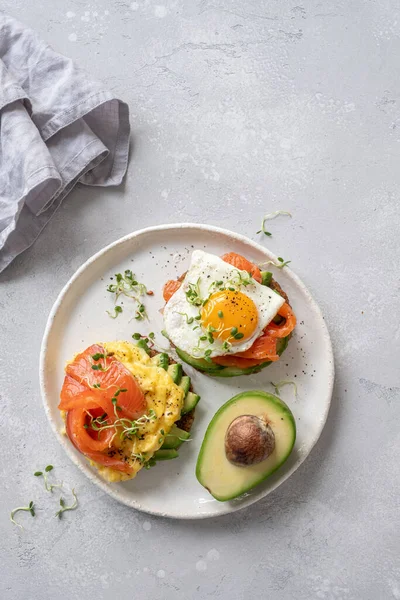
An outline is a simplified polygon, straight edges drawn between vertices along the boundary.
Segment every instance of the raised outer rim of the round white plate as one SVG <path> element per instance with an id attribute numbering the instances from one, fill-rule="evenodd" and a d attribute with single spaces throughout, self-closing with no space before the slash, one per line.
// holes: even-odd
<path id="1" fill-rule="evenodd" d="M 144 227 L 142 229 L 138 229 L 137 231 L 133 231 L 132 233 L 129 233 L 117 240 L 115 240 L 114 242 L 112 242 L 111 244 L 108 244 L 107 246 L 104 246 L 103 248 L 101 248 L 98 252 L 96 252 L 95 254 L 93 254 L 90 258 L 88 258 L 76 271 L 75 273 L 69 278 L 69 280 L 67 281 L 67 283 L 64 285 L 64 287 L 62 288 L 61 292 L 59 293 L 59 295 L 56 298 L 56 301 L 54 302 L 52 309 L 50 311 L 50 314 L 48 316 L 47 322 L 46 322 L 46 327 L 45 327 L 45 331 L 43 334 L 43 339 L 42 339 L 42 344 L 41 344 L 41 348 L 40 348 L 40 358 L 39 358 L 39 380 L 40 380 L 40 391 L 41 391 L 41 397 L 42 397 L 42 402 L 43 402 L 43 406 L 44 406 L 44 410 L 46 413 L 46 416 L 50 422 L 50 426 L 53 430 L 54 435 L 56 436 L 58 442 L 61 444 L 61 446 L 63 447 L 63 449 L 65 450 L 65 452 L 67 453 L 67 455 L 69 456 L 69 458 L 72 460 L 72 462 L 80 469 L 80 471 L 82 471 L 86 477 L 88 477 L 88 479 L 94 483 L 95 485 L 97 485 L 98 487 L 100 487 L 105 493 L 107 493 L 109 496 L 111 496 L 112 498 L 114 498 L 115 500 L 117 500 L 118 502 L 124 504 L 125 506 L 129 506 L 130 508 L 134 508 L 136 510 L 139 510 L 141 512 L 144 512 L 146 514 L 151 514 L 151 515 L 155 515 L 155 516 L 161 516 L 161 517 L 168 517 L 168 518 L 175 518 L 175 519 L 183 519 L 183 520 L 198 520 L 198 519 L 207 519 L 207 518 L 216 518 L 222 515 L 226 515 L 226 514 L 230 514 L 233 512 L 236 512 L 237 510 L 241 510 L 243 508 L 247 508 L 248 506 L 250 506 L 251 504 L 254 504 L 255 502 L 258 502 L 259 500 L 261 500 L 262 498 L 265 498 L 266 496 L 268 496 L 271 492 L 273 492 L 276 488 L 278 488 L 282 483 L 284 483 L 299 467 L 300 465 L 306 460 L 306 458 L 309 456 L 309 454 L 312 452 L 315 444 L 318 442 L 321 433 L 325 427 L 326 424 L 326 420 L 328 418 L 328 413 L 329 413 L 329 409 L 330 409 L 330 404 L 331 404 L 331 399 L 332 399 L 332 392 L 333 392 L 333 384 L 334 384 L 334 377 L 335 377 L 335 367 L 334 367 L 334 356 L 333 356 L 333 350 L 332 350 L 332 342 L 330 339 L 330 335 L 329 335 L 329 331 L 328 328 L 326 326 L 325 320 L 323 318 L 322 315 L 322 311 L 319 308 L 317 302 L 314 300 L 314 298 L 312 297 L 312 295 L 310 294 L 310 292 L 308 291 L 307 287 L 304 285 L 304 283 L 301 281 L 301 279 L 289 268 L 289 267 L 285 267 L 285 273 L 286 275 L 292 279 L 293 283 L 296 284 L 300 290 L 305 294 L 307 301 L 310 303 L 310 305 L 312 306 L 313 312 L 316 313 L 316 315 L 319 318 L 320 321 L 320 326 L 321 326 L 321 330 L 323 333 L 323 336 L 325 338 L 325 342 L 327 343 L 327 359 L 328 359 L 328 364 L 330 366 L 329 369 L 329 381 L 327 382 L 327 394 L 326 394 L 326 403 L 325 403 L 325 411 L 324 414 L 322 416 L 322 419 L 320 421 L 320 429 L 318 431 L 318 434 L 314 436 L 314 439 L 312 440 L 311 446 L 309 448 L 309 451 L 307 452 L 307 454 L 305 456 L 303 456 L 301 459 L 297 460 L 291 469 L 289 469 L 287 472 L 285 472 L 274 484 L 271 488 L 269 488 L 268 490 L 265 490 L 264 492 L 260 492 L 258 494 L 255 494 L 254 496 L 250 496 L 249 498 L 247 498 L 245 501 L 243 501 L 241 504 L 238 505 L 228 505 L 227 503 L 225 503 L 225 508 L 226 510 L 223 510 L 221 512 L 219 512 L 218 514 L 207 514 L 207 513 L 198 513 L 198 514 L 193 514 L 193 513 L 182 513 L 180 515 L 171 515 L 168 514 L 166 512 L 162 512 L 162 511 L 157 511 L 157 510 L 146 510 L 144 507 L 142 507 L 139 503 L 135 502 L 135 500 L 132 500 L 132 502 L 128 502 L 126 501 L 125 498 L 122 498 L 118 491 L 117 488 L 112 488 L 110 487 L 105 481 L 102 481 L 98 478 L 95 477 L 95 475 L 91 472 L 89 465 L 85 465 L 81 460 L 79 460 L 75 454 L 73 453 L 72 449 L 70 448 L 70 445 L 66 442 L 66 440 L 64 439 L 64 436 L 60 433 L 57 424 L 55 423 L 54 419 L 52 418 L 51 412 L 50 412 L 50 403 L 47 399 L 47 390 L 46 390 L 46 381 L 45 381 L 45 364 L 46 364 L 46 349 L 47 349 L 47 342 L 51 333 L 51 329 L 52 329 L 52 325 L 53 322 L 57 316 L 57 313 L 61 307 L 61 304 L 65 298 L 65 296 L 67 295 L 70 287 L 74 284 L 74 282 L 80 277 L 80 275 L 94 262 L 96 262 L 100 257 L 104 256 L 105 254 L 107 254 L 108 252 L 110 252 L 113 248 L 115 248 L 116 246 L 122 245 L 125 242 L 134 239 L 136 237 L 140 237 L 142 235 L 148 234 L 148 233 L 154 233 L 157 231 L 166 231 L 166 230 L 173 230 L 173 229 L 198 229 L 200 231 L 206 231 L 206 232 L 212 232 L 212 233 L 216 233 L 216 234 L 222 234 L 225 236 L 230 236 L 233 239 L 235 239 L 238 242 L 242 242 L 245 243 L 247 245 L 252 246 L 255 250 L 263 253 L 264 255 L 267 256 L 267 258 L 269 260 L 277 260 L 276 255 L 274 255 L 270 250 L 268 250 L 267 248 L 265 248 L 264 246 L 262 246 L 261 244 L 259 244 L 258 242 L 255 242 L 251 239 L 249 239 L 248 237 L 246 237 L 245 235 L 242 235 L 240 233 L 235 233 L 233 231 L 230 231 L 228 229 L 224 229 L 222 227 L 217 227 L 214 225 L 206 225 L 206 224 L 201 224 L 201 223 L 169 223 L 169 224 L 165 224 L 165 225 L 154 225 L 154 226 L 150 226 L 150 227 Z"/>

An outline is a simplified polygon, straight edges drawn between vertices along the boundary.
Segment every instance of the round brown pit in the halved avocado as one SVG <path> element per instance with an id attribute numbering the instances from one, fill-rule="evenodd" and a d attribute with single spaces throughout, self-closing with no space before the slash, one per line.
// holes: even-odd
<path id="1" fill-rule="evenodd" d="M 268 458 L 274 449 L 275 434 L 265 417 L 241 415 L 227 429 L 225 454 L 234 465 L 256 465 Z"/>

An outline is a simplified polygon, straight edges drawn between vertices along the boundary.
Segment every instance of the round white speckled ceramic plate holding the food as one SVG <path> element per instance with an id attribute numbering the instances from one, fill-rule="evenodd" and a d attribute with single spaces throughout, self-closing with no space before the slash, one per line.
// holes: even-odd
<path id="1" fill-rule="evenodd" d="M 63 423 L 57 404 L 64 365 L 74 354 L 94 342 L 130 340 L 135 331 L 160 332 L 162 286 L 167 279 L 176 278 L 187 270 L 194 248 L 218 255 L 234 251 L 256 263 L 276 261 L 276 257 L 259 244 L 208 225 L 164 225 L 136 231 L 95 254 L 70 279 L 49 316 L 40 357 L 46 414 L 60 444 L 74 463 L 91 481 L 120 502 L 147 513 L 180 519 L 233 512 L 260 500 L 285 481 L 304 461 L 321 434 L 334 377 L 331 342 L 317 304 L 292 271 L 275 269 L 274 276 L 288 294 L 298 320 L 295 335 L 282 359 L 257 375 L 229 379 L 208 377 L 185 365 L 195 391 L 201 395 L 192 428 L 193 441 L 181 446 L 178 459 L 143 470 L 132 481 L 104 482 L 60 433 Z M 138 325 L 132 318 L 134 311 L 128 307 L 115 320 L 106 313 L 113 306 L 111 294 L 106 291 L 110 277 L 127 268 L 154 291 L 154 296 L 146 299 L 150 324 Z M 158 340 L 165 346 L 163 337 L 158 335 Z M 291 407 L 297 424 L 296 445 L 290 458 L 245 497 L 231 502 L 214 500 L 195 476 L 196 458 L 209 421 L 224 402 L 240 391 L 265 389 L 272 392 L 271 381 L 286 379 L 295 381 L 298 387 L 297 398 L 292 386 L 281 390 L 281 397 Z"/>

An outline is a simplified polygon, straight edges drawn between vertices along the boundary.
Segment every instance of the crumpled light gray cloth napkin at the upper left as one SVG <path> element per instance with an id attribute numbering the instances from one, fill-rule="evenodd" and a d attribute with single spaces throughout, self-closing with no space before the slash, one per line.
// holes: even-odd
<path id="1" fill-rule="evenodd" d="M 0 272 L 77 182 L 119 185 L 128 106 L 0 12 Z"/>

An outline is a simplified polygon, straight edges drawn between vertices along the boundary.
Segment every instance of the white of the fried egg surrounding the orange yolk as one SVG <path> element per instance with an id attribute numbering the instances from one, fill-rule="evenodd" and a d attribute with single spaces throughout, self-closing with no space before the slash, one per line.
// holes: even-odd
<path id="1" fill-rule="evenodd" d="M 230 350 L 223 348 L 223 340 L 215 339 L 213 344 L 208 340 L 200 341 L 205 330 L 201 326 L 201 321 L 187 321 L 199 315 L 201 307 L 190 304 L 186 297 L 189 290 L 189 284 L 196 285 L 200 297 L 205 299 L 209 296 L 213 288 L 212 284 L 216 281 L 223 281 L 228 285 L 228 281 L 238 281 L 238 273 L 248 278 L 246 271 L 240 271 L 232 265 L 224 262 L 219 256 L 195 250 L 185 279 L 175 294 L 170 298 L 164 308 L 164 326 L 172 343 L 193 357 L 203 357 L 206 350 L 211 350 L 210 356 L 223 356 L 248 350 L 260 337 L 264 328 L 272 321 L 285 300 L 274 292 L 271 288 L 261 285 L 257 281 L 247 286 L 233 285 L 235 289 L 246 294 L 257 307 L 258 323 L 253 335 L 245 341 L 235 343 Z M 232 285 L 229 283 L 229 285 Z"/>

